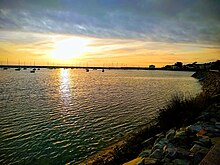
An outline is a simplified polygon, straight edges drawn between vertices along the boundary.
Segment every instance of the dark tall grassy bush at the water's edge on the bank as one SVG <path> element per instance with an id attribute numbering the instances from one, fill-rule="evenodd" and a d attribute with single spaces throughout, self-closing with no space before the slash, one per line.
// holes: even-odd
<path id="1" fill-rule="evenodd" d="M 209 105 L 209 98 L 201 93 L 199 96 L 185 97 L 174 95 L 170 102 L 160 110 L 158 125 L 168 130 L 172 127 L 182 127 L 191 124 L 195 118 Z"/>

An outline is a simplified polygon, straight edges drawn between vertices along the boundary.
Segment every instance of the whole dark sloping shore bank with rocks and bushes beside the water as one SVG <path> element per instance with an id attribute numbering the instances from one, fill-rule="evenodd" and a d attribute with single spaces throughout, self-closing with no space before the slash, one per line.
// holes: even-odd
<path id="1" fill-rule="evenodd" d="M 174 100 L 162 110 L 164 113 L 155 123 L 140 128 L 80 164 L 199 164 L 220 142 L 220 73 L 198 71 L 193 77 L 201 82 L 203 89 L 197 98 L 178 103 Z M 175 113 L 178 114 L 175 116 Z M 173 120 L 173 125 L 166 124 L 178 115 L 181 118 Z"/>

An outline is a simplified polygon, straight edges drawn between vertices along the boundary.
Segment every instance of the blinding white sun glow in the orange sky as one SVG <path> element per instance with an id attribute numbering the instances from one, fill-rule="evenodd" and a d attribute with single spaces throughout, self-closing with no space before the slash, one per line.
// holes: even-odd
<path id="1" fill-rule="evenodd" d="M 51 56 L 60 60 L 80 57 L 87 50 L 87 38 L 72 37 L 55 42 Z"/>

